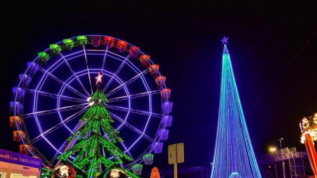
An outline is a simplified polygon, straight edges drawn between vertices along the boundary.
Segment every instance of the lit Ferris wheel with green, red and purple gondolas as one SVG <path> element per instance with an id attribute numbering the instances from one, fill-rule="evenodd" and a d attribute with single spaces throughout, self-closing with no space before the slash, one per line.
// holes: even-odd
<path id="1" fill-rule="evenodd" d="M 20 153 L 42 158 L 44 166 L 57 165 L 57 157 L 75 144 L 67 138 L 84 125 L 79 118 L 92 105 L 101 73 L 105 107 L 125 140 L 122 150 L 133 159 L 124 167 L 152 164 L 173 119 L 171 89 L 158 69 L 139 47 L 109 36 L 77 36 L 49 45 L 27 63 L 13 88 L 10 126 L 13 139 L 21 142 Z"/>

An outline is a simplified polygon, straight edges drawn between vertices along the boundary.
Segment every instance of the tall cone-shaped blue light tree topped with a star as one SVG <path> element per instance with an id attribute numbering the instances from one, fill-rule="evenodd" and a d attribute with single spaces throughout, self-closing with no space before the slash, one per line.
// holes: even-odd
<path id="1" fill-rule="evenodd" d="M 261 178 L 223 38 L 218 129 L 211 178 Z"/>

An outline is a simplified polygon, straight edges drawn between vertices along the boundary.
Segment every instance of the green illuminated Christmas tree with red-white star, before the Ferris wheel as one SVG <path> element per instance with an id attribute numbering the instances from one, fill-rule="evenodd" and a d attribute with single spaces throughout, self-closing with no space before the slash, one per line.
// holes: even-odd
<path id="1" fill-rule="evenodd" d="M 81 170 L 80 174 L 87 178 L 93 178 L 99 174 L 109 171 L 111 168 L 122 168 L 123 161 L 132 161 L 132 158 L 123 153 L 116 143 L 123 142 L 117 131 L 111 125 L 114 120 L 105 108 L 108 102 L 105 94 L 102 92 L 99 84 L 101 84 L 102 75 L 96 77 L 97 90 L 89 99 L 91 107 L 80 118 L 80 121 L 86 123 L 76 133 L 74 133 L 68 140 L 76 140 L 76 144 L 58 156 L 58 159 L 70 164 L 77 170 Z M 109 159 L 101 154 L 104 149 L 108 155 L 113 156 Z M 75 155 L 71 161 L 70 156 Z M 104 169 L 102 169 L 102 167 Z M 102 170 L 101 170 L 102 169 Z M 138 178 L 133 173 L 126 171 L 127 175 L 133 178 Z"/>

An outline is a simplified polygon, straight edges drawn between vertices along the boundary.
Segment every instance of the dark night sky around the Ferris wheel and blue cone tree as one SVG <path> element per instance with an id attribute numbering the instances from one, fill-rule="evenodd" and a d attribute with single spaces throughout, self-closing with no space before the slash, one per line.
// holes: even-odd
<path id="1" fill-rule="evenodd" d="M 113 1 L 112 1 L 113 2 Z M 206 166 L 217 129 L 223 35 L 256 155 L 300 144 L 298 123 L 317 111 L 317 11 L 312 1 L 221 0 L 158 4 L 56 1 L 2 4 L 0 148 L 18 151 L 9 128 L 12 87 L 49 44 L 81 34 L 117 37 L 155 58 L 175 103 L 170 143 L 185 163 Z M 156 165 L 166 168 L 166 149 Z"/>

